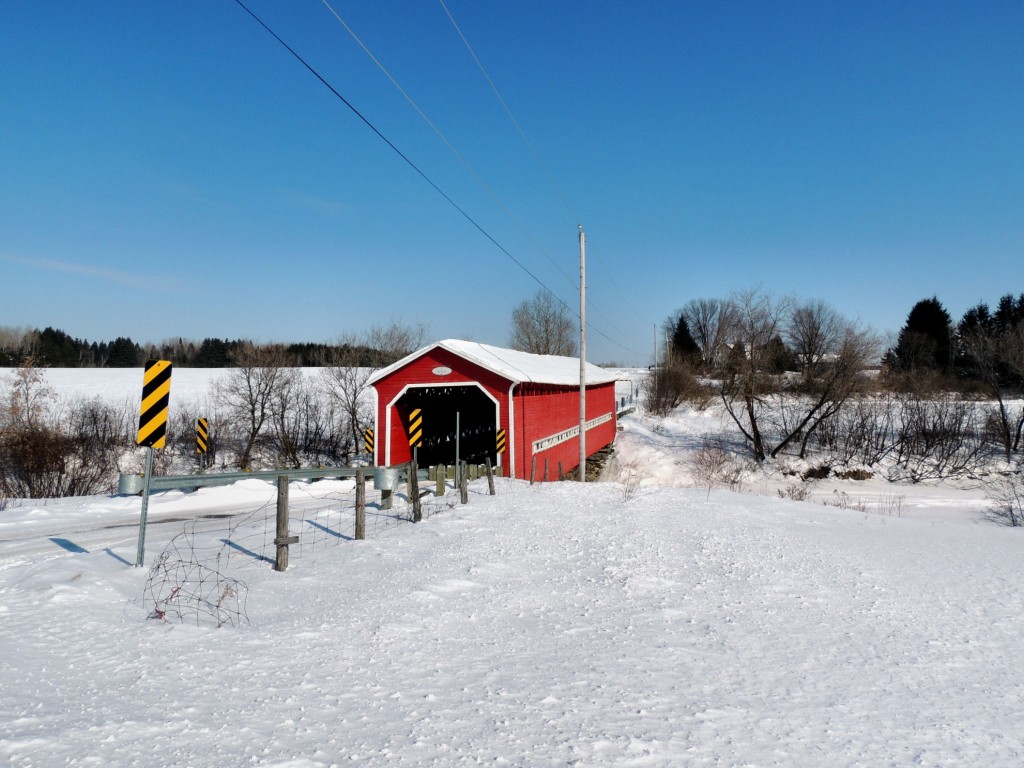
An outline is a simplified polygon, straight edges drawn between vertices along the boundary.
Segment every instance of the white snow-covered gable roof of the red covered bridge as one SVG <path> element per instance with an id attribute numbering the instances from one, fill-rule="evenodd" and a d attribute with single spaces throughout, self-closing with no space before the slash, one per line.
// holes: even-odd
<path id="1" fill-rule="evenodd" d="M 475 341 L 461 339 L 444 339 L 402 357 L 397 362 L 378 371 L 370 378 L 375 384 L 391 373 L 409 365 L 416 358 L 432 349 L 446 349 L 453 354 L 474 362 L 480 368 L 498 374 L 516 384 L 531 382 L 535 384 L 560 384 L 571 386 L 580 384 L 580 358 L 563 357 L 557 354 L 531 354 L 515 349 L 493 347 Z M 587 384 L 607 384 L 617 381 L 621 377 L 593 364 L 587 364 Z"/>

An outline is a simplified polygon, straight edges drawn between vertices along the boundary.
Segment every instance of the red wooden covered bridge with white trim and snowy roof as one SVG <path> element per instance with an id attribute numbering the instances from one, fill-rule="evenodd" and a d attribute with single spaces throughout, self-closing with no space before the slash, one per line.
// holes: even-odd
<path id="1" fill-rule="evenodd" d="M 534 457 L 538 478 L 545 460 L 549 479 L 559 463 L 566 473 L 580 464 L 579 357 L 445 339 L 377 372 L 370 384 L 377 394 L 375 465 L 412 458 L 411 417 L 422 429 L 421 467 L 455 464 L 457 443 L 460 460 L 489 457 L 507 477 L 529 477 Z M 614 436 L 615 376 L 588 365 L 587 455 Z"/>

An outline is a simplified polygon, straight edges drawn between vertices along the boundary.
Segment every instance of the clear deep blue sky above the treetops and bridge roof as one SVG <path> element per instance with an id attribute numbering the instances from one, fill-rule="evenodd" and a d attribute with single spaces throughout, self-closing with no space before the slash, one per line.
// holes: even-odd
<path id="1" fill-rule="evenodd" d="M 245 2 L 465 215 L 233 0 L 6 0 L 0 325 L 502 345 L 537 280 L 577 309 L 578 223 L 597 362 L 755 287 L 1024 292 L 1019 1 L 332 0 L 465 164 L 322 0 Z"/>

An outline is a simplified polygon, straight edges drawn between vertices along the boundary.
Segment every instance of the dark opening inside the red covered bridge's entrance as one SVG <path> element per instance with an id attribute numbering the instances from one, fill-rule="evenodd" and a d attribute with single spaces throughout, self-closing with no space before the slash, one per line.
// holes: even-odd
<path id="1" fill-rule="evenodd" d="M 407 435 L 410 414 L 414 409 L 422 411 L 423 444 L 417 451 L 421 467 L 456 463 L 457 419 L 459 460 L 482 464 L 489 457 L 497 464 L 497 407 L 479 387 L 417 387 L 402 395 L 396 409 Z"/>

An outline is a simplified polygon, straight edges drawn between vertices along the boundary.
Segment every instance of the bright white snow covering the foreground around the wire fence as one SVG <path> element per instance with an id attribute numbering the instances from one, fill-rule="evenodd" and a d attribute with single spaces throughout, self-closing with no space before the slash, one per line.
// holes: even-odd
<path id="1" fill-rule="evenodd" d="M 4 510 L 0 764 L 1024 764 L 1024 539 L 984 488 L 692 487 L 716 418 L 626 417 L 625 483 L 477 482 L 286 573 L 232 558 L 237 628 L 146 618 L 137 498 Z M 160 520 L 271 498 L 154 497 L 147 563 Z"/>

